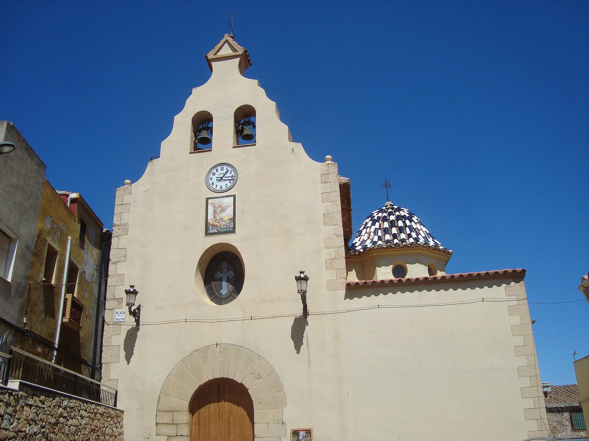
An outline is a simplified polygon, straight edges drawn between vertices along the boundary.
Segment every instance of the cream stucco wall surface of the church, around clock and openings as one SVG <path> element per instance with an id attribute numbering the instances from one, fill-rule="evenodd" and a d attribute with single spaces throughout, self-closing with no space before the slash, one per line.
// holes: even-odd
<path id="1" fill-rule="evenodd" d="M 276 106 L 257 81 L 239 74 L 238 61 L 213 62 L 209 82 L 193 89 L 174 119 L 161 158 L 149 163 L 139 181 L 117 191 L 102 361 L 103 380 L 118 386 L 125 439 L 187 439 L 186 390 L 183 397 L 173 397 L 173 390 L 196 389 L 201 380 L 180 362 L 207 346 L 197 353 L 200 360 L 212 358 L 210 375 L 231 347 L 246 348 L 272 366 L 260 377 L 279 376 L 273 385 L 281 383 L 286 397 L 285 407 L 275 400 L 284 407 L 283 423 L 270 422 L 269 407 L 258 406 L 256 437 L 286 439 L 291 428 L 313 427 L 318 440 L 490 441 L 525 439 L 538 430 L 524 409 L 540 403 L 522 398 L 521 389 L 537 393 L 538 385 L 531 384 L 537 366 L 534 376 L 522 375 L 529 355 L 515 355 L 515 346 L 533 349 L 533 341 L 513 328 L 529 326 L 523 286 L 515 297 L 506 296 L 505 285 L 514 285 L 509 276 L 346 293 L 337 165 L 314 162 L 289 141 Z M 257 142 L 236 149 L 233 112 L 243 104 L 256 109 Z M 191 118 L 203 110 L 214 118 L 212 150 L 189 153 Z M 236 233 L 205 236 L 205 199 L 215 193 L 204 176 L 219 162 L 239 172 L 227 192 L 236 195 Z M 195 277 L 203 253 L 218 243 L 239 250 L 245 268 L 239 298 L 224 306 L 211 305 Z M 295 318 L 301 303 L 294 276 L 300 269 L 310 276 L 310 312 L 324 312 L 311 315 L 307 327 Z M 124 326 L 112 322 L 113 311 L 125 309 L 130 283 L 140 291 L 138 332 L 129 319 Z M 325 313 L 482 297 L 510 301 Z M 524 318 L 510 315 L 509 305 L 524 308 L 518 310 Z M 244 319 L 190 321 L 231 318 Z M 178 322 L 165 323 L 173 320 Z M 180 380 L 165 387 L 161 398 L 168 375 L 172 383 Z"/>

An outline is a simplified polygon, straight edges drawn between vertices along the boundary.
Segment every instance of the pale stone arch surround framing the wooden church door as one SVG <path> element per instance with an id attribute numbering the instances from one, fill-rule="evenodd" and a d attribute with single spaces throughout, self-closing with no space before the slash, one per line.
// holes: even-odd
<path id="1" fill-rule="evenodd" d="M 276 371 L 262 356 L 239 345 L 204 346 L 184 357 L 161 386 L 155 433 L 168 441 L 190 437 L 190 400 L 199 386 L 215 378 L 230 378 L 247 387 L 254 403 L 254 436 L 265 441 L 286 437 L 282 413 L 286 395 Z"/>

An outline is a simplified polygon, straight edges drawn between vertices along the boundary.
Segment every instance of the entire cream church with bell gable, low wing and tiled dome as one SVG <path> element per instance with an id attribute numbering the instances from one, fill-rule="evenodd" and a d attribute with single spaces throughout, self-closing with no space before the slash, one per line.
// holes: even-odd
<path id="1" fill-rule="evenodd" d="M 102 381 L 125 439 L 546 436 L 525 270 L 446 274 L 451 250 L 390 202 L 353 235 L 349 179 L 292 141 L 246 49 L 206 58 L 116 192 Z"/>

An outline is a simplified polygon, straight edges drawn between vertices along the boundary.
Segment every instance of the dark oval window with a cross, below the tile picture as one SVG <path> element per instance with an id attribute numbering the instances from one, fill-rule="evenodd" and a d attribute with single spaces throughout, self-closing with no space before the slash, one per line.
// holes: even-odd
<path id="1" fill-rule="evenodd" d="M 243 265 L 230 251 L 217 253 L 204 272 L 204 289 L 211 302 L 226 305 L 239 296 L 243 288 Z"/>

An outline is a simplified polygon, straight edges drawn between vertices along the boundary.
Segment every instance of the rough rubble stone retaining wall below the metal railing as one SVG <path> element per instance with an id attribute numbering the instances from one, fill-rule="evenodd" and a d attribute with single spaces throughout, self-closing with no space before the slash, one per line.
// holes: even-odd
<path id="1" fill-rule="evenodd" d="M 123 410 L 19 387 L 0 386 L 0 440 L 123 441 Z"/>

